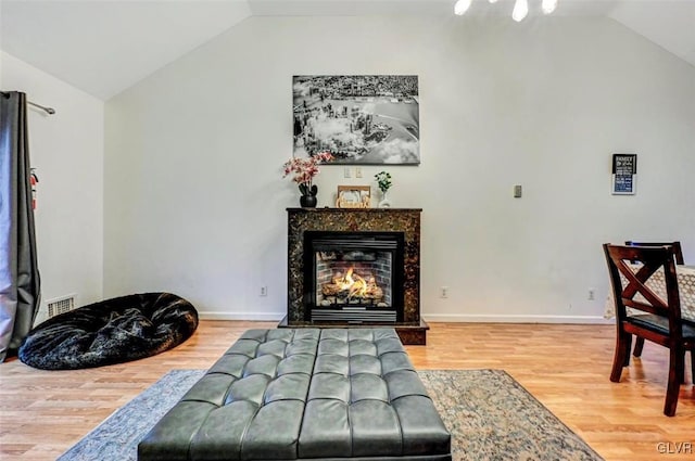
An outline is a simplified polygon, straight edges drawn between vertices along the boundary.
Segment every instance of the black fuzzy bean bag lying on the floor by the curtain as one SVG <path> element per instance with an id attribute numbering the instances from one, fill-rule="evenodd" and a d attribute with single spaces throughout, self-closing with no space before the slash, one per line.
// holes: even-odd
<path id="1" fill-rule="evenodd" d="M 52 317 L 22 342 L 20 360 L 43 370 L 123 363 L 178 346 L 198 328 L 198 311 L 170 293 L 143 293 Z"/>

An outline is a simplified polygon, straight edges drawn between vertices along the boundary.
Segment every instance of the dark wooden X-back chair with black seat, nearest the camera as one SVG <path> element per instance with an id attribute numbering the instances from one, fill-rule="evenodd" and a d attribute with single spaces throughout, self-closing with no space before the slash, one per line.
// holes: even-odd
<path id="1" fill-rule="evenodd" d="M 684 324 L 681 319 L 681 300 L 675 276 L 672 246 L 619 246 L 604 245 L 608 273 L 616 303 L 617 341 L 610 372 L 610 381 L 620 381 L 626 359 L 630 355 L 632 335 L 668 347 L 669 380 L 666 390 L 664 414 L 675 414 L 678 394 L 685 370 L 685 351 L 691 351 L 693 375 L 695 376 L 695 326 Z M 631 261 L 642 267 L 633 272 Z M 667 299 L 661 299 L 648 286 L 647 280 L 664 268 Z M 623 283 L 621 276 L 627 283 Z M 641 310 L 644 315 L 628 315 L 627 308 Z"/>

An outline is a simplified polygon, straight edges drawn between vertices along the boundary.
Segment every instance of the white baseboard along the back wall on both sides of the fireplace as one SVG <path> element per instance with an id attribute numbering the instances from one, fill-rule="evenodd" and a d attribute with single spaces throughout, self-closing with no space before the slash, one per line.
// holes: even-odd
<path id="1" fill-rule="evenodd" d="M 198 312 L 202 320 L 248 320 L 279 322 L 286 312 Z M 422 318 L 428 322 L 470 323 L 598 323 L 611 324 L 612 319 L 599 316 L 534 316 L 534 315 L 479 315 L 479 313 L 428 313 Z"/>

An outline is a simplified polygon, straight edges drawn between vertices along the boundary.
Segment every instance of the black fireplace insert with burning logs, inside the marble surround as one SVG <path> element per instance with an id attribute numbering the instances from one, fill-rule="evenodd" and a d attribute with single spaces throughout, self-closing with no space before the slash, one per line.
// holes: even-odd
<path id="1" fill-rule="evenodd" d="M 311 322 L 403 321 L 403 232 L 304 232 Z"/>

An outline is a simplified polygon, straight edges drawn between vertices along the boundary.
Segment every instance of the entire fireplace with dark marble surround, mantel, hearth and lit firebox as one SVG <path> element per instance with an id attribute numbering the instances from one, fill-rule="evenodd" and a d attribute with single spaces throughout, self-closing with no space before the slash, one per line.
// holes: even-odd
<path id="1" fill-rule="evenodd" d="M 420 208 L 288 208 L 287 316 L 279 328 L 392 326 L 426 344 Z"/>

